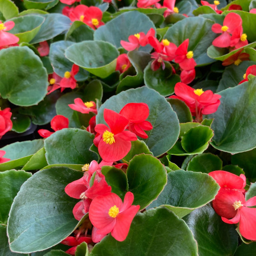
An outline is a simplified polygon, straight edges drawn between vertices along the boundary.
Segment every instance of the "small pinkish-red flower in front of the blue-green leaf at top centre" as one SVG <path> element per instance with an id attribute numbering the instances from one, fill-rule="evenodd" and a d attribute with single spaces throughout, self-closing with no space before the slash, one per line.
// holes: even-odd
<path id="1" fill-rule="evenodd" d="M 126 51 L 133 51 L 139 49 L 140 46 L 146 46 L 148 44 L 148 37 L 155 36 L 155 33 L 155 30 L 151 28 L 146 35 L 143 32 L 130 35 L 128 37 L 129 42 L 121 40 L 120 44 Z"/>

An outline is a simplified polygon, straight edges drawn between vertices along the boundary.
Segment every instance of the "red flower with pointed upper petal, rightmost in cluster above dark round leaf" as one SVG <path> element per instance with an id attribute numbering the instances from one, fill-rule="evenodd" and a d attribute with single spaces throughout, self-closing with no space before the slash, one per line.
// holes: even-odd
<path id="1" fill-rule="evenodd" d="M 193 51 L 187 51 L 188 44 L 189 39 L 186 39 L 175 52 L 176 57 L 174 60 L 176 63 L 179 63 L 182 70 L 192 70 L 197 66 L 197 63 L 193 58 Z"/>

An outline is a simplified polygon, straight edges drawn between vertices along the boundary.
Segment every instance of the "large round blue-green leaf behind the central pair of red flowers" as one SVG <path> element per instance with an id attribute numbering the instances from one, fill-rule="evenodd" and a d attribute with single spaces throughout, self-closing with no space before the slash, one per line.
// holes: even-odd
<path id="1" fill-rule="evenodd" d="M 152 89 L 141 87 L 112 96 L 101 105 L 96 116 L 96 122 L 105 124 L 104 109 L 111 109 L 119 113 L 123 106 L 130 102 L 144 102 L 148 105 L 150 115 L 147 121 L 152 123 L 153 130 L 146 132 L 148 138 L 143 139 L 143 141 L 154 156 L 164 154 L 178 139 L 179 121 L 166 99 Z"/>

